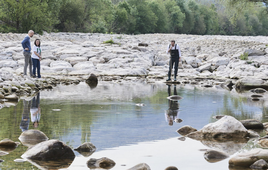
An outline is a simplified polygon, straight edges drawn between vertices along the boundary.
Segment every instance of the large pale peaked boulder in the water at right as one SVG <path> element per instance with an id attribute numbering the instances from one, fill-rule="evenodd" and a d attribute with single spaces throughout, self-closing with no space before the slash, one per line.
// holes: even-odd
<path id="1" fill-rule="evenodd" d="M 232 116 L 224 116 L 214 123 L 209 123 L 201 130 L 186 135 L 187 137 L 239 138 L 248 137 L 248 130 Z"/>

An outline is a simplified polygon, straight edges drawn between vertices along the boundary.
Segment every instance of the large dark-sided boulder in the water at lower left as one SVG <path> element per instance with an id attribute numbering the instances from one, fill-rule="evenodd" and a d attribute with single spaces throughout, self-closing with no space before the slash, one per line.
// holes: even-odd
<path id="1" fill-rule="evenodd" d="M 30 146 L 21 156 L 32 160 L 50 160 L 75 157 L 73 150 L 59 140 L 47 140 Z"/>

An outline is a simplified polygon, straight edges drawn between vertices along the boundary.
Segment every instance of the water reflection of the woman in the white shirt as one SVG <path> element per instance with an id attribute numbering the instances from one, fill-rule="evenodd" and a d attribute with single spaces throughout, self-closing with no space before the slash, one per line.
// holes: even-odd
<path id="1" fill-rule="evenodd" d="M 33 127 L 37 128 L 39 125 L 40 114 L 41 114 L 40 93 L 34 96 L 33 101 L 32 101 L 32 106 L 30 108 L 30 112 L 31 112 L 31 121 L 33 122 Z"/>

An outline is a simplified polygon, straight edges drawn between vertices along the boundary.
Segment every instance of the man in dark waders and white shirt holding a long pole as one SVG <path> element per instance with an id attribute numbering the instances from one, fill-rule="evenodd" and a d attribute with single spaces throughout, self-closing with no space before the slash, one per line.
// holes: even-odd
<path id="1" fill-rule="evenodd" d="M 177 81 L 176 77 L 177 77 L 177 72 L 178 72 L 178 66 L 179 66 L 179 62 L 180 62 L 180 56 L 181 56 L 181 52 L 180 52 L 180 47 L 178 44 L 175 44 L 175 41 L 172 40 L 171 43 L 167 46 L 166 48 L 166 53 L 170 54 L 170 59 L 171 59 L 171 64 L 169 61 L 169 71 L 168 71 L 168 79 L 166 81 L 170 81 L 171 79 L 171 73 L 172 73 L 172 68 L 175 62 L 175 66 L 174 66 L 174 81 Z"/>

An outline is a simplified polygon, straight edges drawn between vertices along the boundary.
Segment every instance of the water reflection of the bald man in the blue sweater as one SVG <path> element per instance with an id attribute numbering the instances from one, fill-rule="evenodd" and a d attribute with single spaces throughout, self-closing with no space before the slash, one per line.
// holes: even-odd
<path id="1" fill-rule="evenodd" d="M 22 132 L 29 129 L 29 123 L 30 123 L 30 105 L 31 101 L 27 101 L 23 99 L 23 112 L 21 115 L 21 122 L 20 122 L 20 129 Z"/>

